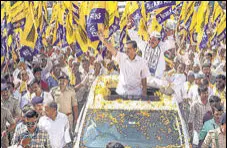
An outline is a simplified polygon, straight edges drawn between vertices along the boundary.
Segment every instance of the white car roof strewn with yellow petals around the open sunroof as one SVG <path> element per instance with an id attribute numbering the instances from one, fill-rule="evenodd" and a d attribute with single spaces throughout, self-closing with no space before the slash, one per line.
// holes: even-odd
<path id="1" fill-rule="evenodd" d="M 114 109 L 114 110 L 177 110 L 176 104 L 172 102 L 172 97 L 157 92 L 160 101 L 141 100 L 107 100 L 110 95 L 108 88 L 116 88 L 118 76 L 99 76 L 93 83 L 88 96 L 88 109 Z M 106 97 L 105 97 L 106 96 Z"/>

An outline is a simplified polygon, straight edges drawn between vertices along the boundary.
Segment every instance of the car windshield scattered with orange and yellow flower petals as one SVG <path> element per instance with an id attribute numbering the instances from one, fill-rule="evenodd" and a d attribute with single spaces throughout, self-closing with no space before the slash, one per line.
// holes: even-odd
<path id="1" fill-rule="evenodd" d="M 182 146 L 184 137 L 174 110 L 89 109 L 80 147 L 102 148 L 118 141 L 132 148 Z"/>

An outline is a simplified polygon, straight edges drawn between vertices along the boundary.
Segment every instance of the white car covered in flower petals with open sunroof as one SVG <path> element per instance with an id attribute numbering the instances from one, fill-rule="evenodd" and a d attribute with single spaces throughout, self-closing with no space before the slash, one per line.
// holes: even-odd
<path id="1" fill-rule="evenodd" d="M 171 97 L 149 88 L 148 97 L 119 96 L 118 76 L 100 76 L 75 129 L 74 148 L 105 148 L 115 141 L 130 148 L 188 147 L 188 133 Z"/>

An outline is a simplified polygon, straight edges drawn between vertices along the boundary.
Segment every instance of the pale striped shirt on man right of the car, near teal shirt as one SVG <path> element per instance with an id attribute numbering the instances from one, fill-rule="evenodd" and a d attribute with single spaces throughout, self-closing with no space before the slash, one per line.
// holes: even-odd
<path id="1" fill-rule="evenodd" d="M 192 104 L 190 115 L 189 115 L 189 123 L 193 123 L 193 128 L 198 133 L 203 127 L 203 117 L 208 112 L 211 111 L 210 103 L 203 104 L 201 99 Z"/>

